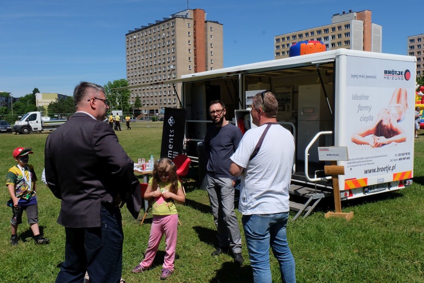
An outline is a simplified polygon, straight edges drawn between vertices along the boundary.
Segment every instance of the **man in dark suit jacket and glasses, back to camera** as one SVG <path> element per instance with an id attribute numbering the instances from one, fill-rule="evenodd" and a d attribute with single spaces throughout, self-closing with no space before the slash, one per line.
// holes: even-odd
<path id="1" fill-rule="evenodd" d="M 134 218 L 141 207 L 133 161 L 110 126 L 102 86 L 75 87 L 77 112 L 47 138 L 47 185 L 61 199 L 58 223 L 65 227 L 65 262 L 57 283 L 117 283 L 122 272 L 123 232 L 119 204 Z"/>

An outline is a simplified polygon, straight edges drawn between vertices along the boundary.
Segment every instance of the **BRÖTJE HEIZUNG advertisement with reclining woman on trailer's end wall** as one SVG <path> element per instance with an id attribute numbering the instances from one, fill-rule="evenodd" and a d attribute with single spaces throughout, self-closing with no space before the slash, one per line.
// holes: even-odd
<path id="1" fill-rule="evenodd" d="M 414 63 L 348 56 L 346 66 L 344 178 L 393 181 L 413 168 Z"/>

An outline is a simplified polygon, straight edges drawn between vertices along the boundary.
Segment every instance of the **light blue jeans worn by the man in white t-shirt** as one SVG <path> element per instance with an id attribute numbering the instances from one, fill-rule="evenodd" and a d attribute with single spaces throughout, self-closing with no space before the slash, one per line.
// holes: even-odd
<path id="1" fill-rule="evenodd" d="M 295 259 L 287 243 L 288 219 L 289 212 L 243 215 L 241 218 L 254 283 L 272 282 L 269 266 L 270 246 L 280 264 L 282 282 L 296 282 Z"/>

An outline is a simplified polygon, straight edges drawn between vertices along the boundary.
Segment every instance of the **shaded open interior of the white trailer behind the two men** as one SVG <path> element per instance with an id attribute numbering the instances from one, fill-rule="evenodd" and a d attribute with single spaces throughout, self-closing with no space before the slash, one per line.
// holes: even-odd
<path id="1" fill-rule="evenodd" d="M 205 136 L 206 129 L 212 126 L 208 115 L 209 103 L 212 100 L 219 99 L 225 104 L 227 121 L 239 127 L 244 121 L 245 125 L 242 126 L 248 129 L 249 121 L 246 118 L 250 115 L 246 109 L 249 105 L 246 105 L 242 94 L 246 91 L 255 94 L 259 90 L 268 89 L 279 101 L 277 121 L 292 132 L 296 141 L 292 175 L 295 188 L 291 193 L 297 195 L 298 192 L 300 196 L 304 196 L 305 193 L 310 195 L 310 192 L 316 192 L 320 197 L 330 196 L 331 180 L 310 182 L 306 174 L 316 178 L 324 176 L 323 166 L 328 162 L 318 160 L 318 146 L 334 145 L 332 135 L 320 136 L 309 149 L 307 157 L 305 148 L 318 132 L 334 131 L 334 68 L 334 62 L 309 63 L 302 66 L 280 66 L 280 69 L 262 72 L 248 70 L 184 83 L 183 103 L 188 115 L 187 154 L 199 156 L 199 166 L 205 165 L 202 164 L 205 157 L 202 157 L 198 143 Z M 304 191 L 305 189 L 307 191 Z"/>

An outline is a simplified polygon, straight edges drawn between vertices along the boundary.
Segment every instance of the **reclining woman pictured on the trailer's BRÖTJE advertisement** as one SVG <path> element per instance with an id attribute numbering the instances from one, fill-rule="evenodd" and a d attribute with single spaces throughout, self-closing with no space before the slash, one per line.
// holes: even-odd
<path id="1" fill-rule="evenodd" d="M 395 89 L 388 108 L 379 111 L 375 123 L 353 133 L 351 140 L 354 143 L 368 144 L 372 147 L 406 141 L 406 132 L 398 125 L 398 122 L 405 118 L 407 108 L 406 89 Z"/>

